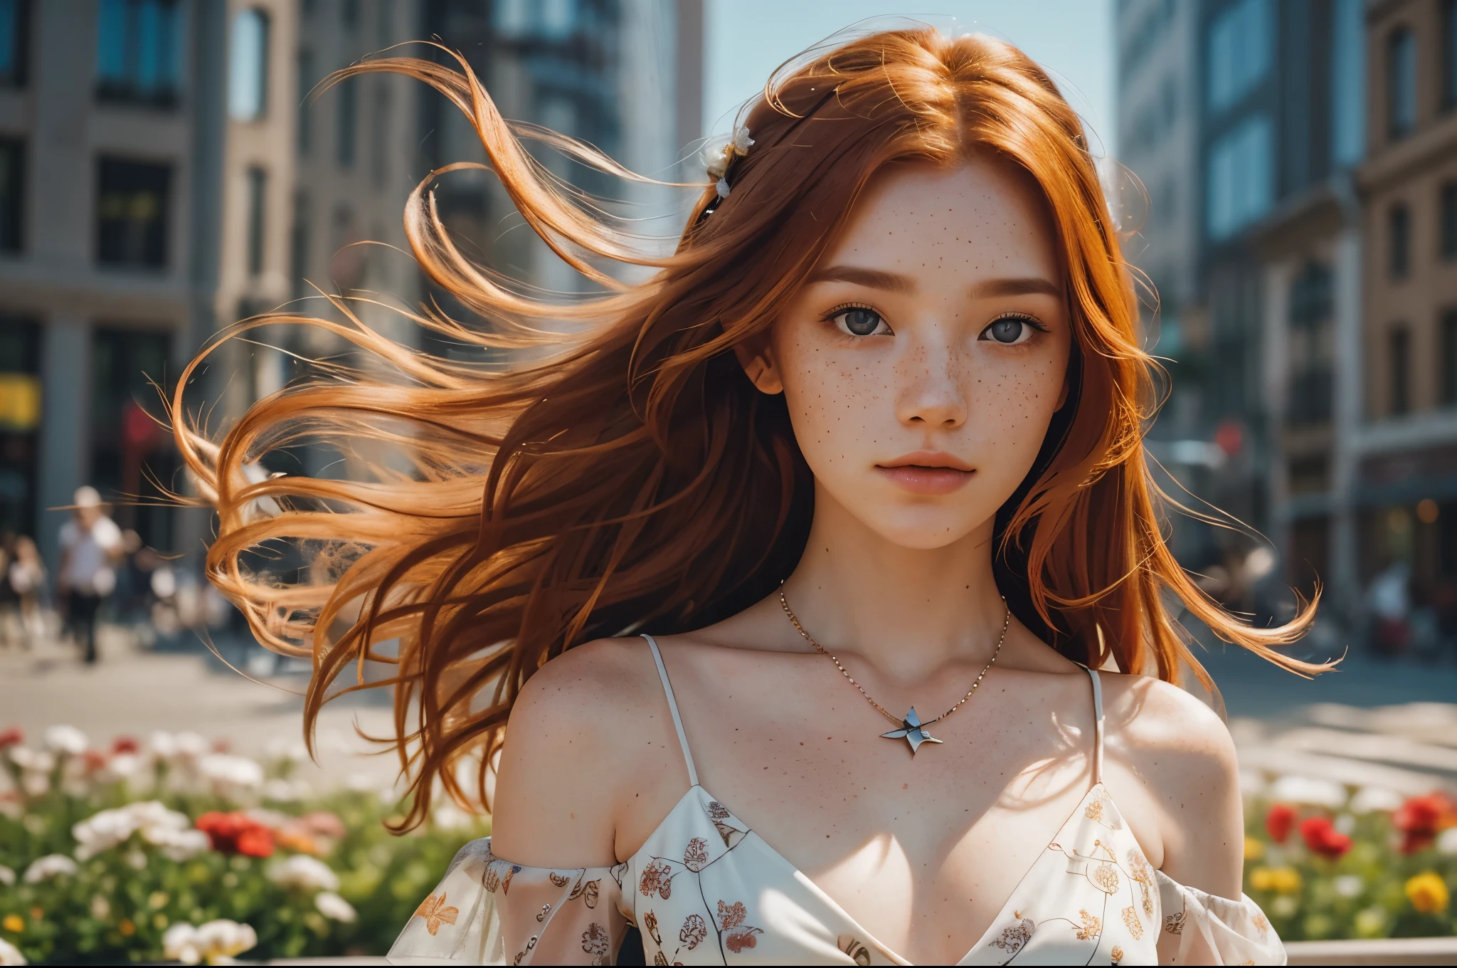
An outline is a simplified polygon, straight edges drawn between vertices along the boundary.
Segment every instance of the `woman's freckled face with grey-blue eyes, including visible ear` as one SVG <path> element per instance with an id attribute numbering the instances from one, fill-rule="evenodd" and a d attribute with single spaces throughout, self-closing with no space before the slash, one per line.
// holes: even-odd
<path id="1" fill-rule="evenodd" d="M 1052 226 L 1030 179 L 978 159 L 893 165 L 775 321 L 740 351 L 788 402 L 820 499 L 938 548 L 1032 469 L 1071 340 Z"/>

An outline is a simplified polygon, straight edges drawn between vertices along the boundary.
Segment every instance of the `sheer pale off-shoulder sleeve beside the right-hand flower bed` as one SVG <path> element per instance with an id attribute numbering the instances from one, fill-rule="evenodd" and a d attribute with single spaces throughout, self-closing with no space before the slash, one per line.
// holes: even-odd
<path id="1" fill-rule="evenodd" d="M 1154 872 L 1164 924 L 1158 936 L 1160 965 L 1284 965 L 1285 946 L 1260 905 L 1186 888 L 1163 870 Z"/>

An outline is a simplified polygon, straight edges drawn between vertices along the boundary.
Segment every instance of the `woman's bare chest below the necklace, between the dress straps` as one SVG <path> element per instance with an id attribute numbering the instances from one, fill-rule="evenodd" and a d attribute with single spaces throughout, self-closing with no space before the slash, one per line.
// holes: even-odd
<path id="1" fill-rule="evenodd" d="M 912 961 L 956 961 L 1093 783 L 1085 682 L 1049 701 L 1016 675 L 989 679 L 912 755 L 881 738 L 895 723 L 800 659 L 743 676 L 753 690 L 679 687 L 701 783 L 865 934 Z M 949 687 L 924 720 L 956 701 Z"/>

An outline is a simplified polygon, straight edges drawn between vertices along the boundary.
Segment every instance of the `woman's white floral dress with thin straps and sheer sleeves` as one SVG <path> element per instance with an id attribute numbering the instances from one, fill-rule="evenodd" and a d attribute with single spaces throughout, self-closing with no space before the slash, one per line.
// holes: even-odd
<path id="1" fill-rule="evenodd" d="M 466 844 L 389 952 L 396 965 L 609 965 L 628 924 L 657 965 L 909 965 L 698 786 L 615 867 L 546 870 Z M 1094 783 L 962 965 L 1284 965 L 1254 901 L 1154 870 L 1101 783 L 1103 700 L 1093 678 Z"/>

